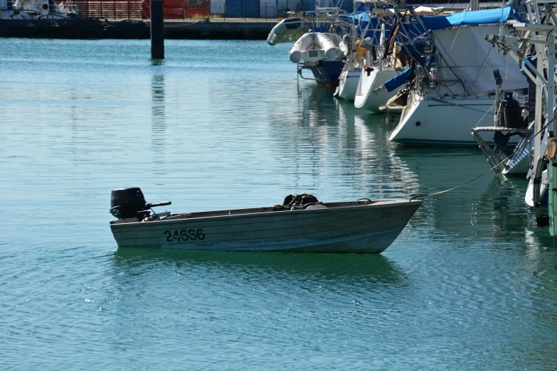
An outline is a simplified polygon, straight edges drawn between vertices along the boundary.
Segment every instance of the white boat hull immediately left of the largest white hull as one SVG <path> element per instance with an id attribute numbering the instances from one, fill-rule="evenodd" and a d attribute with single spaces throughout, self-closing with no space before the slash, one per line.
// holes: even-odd
<path id="1" fill-rule="evenodd" d="M 386 89 L 373 94 L 373 90 L 383 85 L 387 80 L 398 75 L 394 68 L 383 68 L 383 70 L 373 70 L 369 73 L 365 69 L 361 70 L 360 80 L 356 88 L 354 97 L 354 107 L 368 109 L 373 112 L 381 112 L 379 107 L 397 94 L 396 90 L 388 92 Z"/>

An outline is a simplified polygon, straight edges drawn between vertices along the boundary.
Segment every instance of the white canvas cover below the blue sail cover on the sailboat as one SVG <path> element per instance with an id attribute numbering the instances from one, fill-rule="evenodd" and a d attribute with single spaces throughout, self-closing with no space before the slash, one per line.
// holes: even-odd
<path id="1" fill-rule="evenodd" d="M 508 35 L 506 26 L 502 33 Z M 502 51 L 497 53 L 497 48 L 492 50 L 492 45 L 484 40 L 485 35 L 498 35 L 499 25 L 487 26 L 460 26 L 447 30 L 435 31 L 435 47 L 441 55 L 450 58 L 437 58 L 437 81 L 457 80 L 447 63 L 455 65 L 460 75 L 469 83 L 468 89 L 476 94 L 493 92 L 495 79 L 493 71 L 499 70 L 503 77 L 504 90 L 519 90 L 528 87 L 526 77 L 520 72 L 520 67 L 509 55 L 503 56 Z M 487 62 L 486 62 L 487 60 Z M 453 64 L 454 63 L 454 64 Z M 480 74 L 481 72 L 481 74 Z M 508 79 L 506 76 L 508 75 Z M 443 84 L 450 85 L 450 83 Z M 442 94 L 462 95 L 462 85 L 440 85 Z"/>

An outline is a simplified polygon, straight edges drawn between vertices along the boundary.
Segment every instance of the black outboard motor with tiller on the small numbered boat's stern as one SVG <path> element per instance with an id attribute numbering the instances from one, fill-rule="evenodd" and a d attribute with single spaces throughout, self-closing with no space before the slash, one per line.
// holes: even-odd
<path id="1" fill-rule="evenodd" d="M 142 220 L 149 215 L 146 210 L 166 205 L 171 205 L 171 202 L 146 203 L 143 192 L 137 187 L 115 189 L 110 193 L 110 213 L 118 219 L 139 217 Z"/>

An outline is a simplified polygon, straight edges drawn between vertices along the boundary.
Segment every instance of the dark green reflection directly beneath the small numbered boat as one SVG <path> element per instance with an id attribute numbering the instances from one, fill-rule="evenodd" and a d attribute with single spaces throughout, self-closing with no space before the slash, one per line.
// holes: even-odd
<path id="1" fill-rule="evenodd" d="M 234 252 L 180 252 L 155 249 L 117 249 L 114 253 L 117 271 L 124 275 L 142 271 L 146 266 L 176 267 L 187 275 L 191 269 L 218 269 L 230 276 L 250 271 L 251 279 L 264 282 L 277 274 L 292 279 L 315 278 L 338 284 L 397 284 L 403 272 L 387 257 L 360 254 L 286 254 Z M 116 274 L 118 275 L 118 273 Z"/>

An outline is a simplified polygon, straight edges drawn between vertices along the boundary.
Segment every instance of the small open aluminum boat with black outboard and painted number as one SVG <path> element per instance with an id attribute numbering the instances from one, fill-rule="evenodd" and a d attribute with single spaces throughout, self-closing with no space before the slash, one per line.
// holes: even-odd
<path id="1" fill-rule="evenodd" d="M 317 200 L 317 199 L 316 199 Z M 379 254 L 398 237 L 421 201 L 312 203 L 290 210 L 248 208 L 150 213 L 139 188 L 112 191 L 110 229 L 118 247 Z M 275 211 L 273 211 L 275 210 Z"/>

